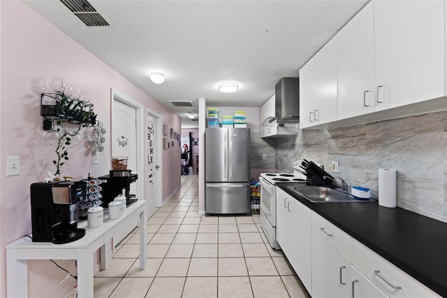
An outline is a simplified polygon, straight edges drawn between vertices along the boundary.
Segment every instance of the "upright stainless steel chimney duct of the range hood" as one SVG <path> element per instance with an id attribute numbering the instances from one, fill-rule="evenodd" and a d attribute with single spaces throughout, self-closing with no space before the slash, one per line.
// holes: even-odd
<path id="1" fill-rule="evenodd" d="M 270 122 L 298 123 L 300 120 L 299 78 L 281 78 L 274 91 L 274 118 Z"/>

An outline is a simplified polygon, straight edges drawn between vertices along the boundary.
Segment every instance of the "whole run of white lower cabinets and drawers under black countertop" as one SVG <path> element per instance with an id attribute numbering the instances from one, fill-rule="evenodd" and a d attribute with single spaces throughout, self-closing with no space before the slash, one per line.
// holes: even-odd
<path id="1" fill-rule="evenodd" d="M 440 297 L 279 187 L 276 231 L 313 298 Z"/>

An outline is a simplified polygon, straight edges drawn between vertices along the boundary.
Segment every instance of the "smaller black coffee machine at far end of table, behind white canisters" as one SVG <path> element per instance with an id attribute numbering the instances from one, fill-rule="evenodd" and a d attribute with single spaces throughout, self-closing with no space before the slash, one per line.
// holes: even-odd
<path id="1" fill-rule="evenodd" d="M 132 170 L 110 170 L 108 175 L 98 177 L 103 187 L 103 207 L 108 207 L 110 201 L 113 201 L 119 194 L 126 197 L 126 206 L 131 205 L 137 199 L 131 199 L 131 183 L 138 180 L 138 174 L 131 173 Z"/>

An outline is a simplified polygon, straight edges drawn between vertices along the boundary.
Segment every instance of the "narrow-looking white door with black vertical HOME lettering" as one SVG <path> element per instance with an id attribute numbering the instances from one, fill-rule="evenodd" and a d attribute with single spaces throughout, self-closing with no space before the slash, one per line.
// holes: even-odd
<path id="1" fill-rule="evenodd" d="M 155 187 L 156 187 L 156 119 L 147 115 L 147 187 L 145 199 L 149 205 L 149 211 L 156 207 Z"/>

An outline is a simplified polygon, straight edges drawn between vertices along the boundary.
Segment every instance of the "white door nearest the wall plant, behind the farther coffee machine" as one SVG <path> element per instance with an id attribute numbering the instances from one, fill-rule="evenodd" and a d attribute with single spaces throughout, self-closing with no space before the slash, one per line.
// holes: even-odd
<path id="1" fill-rule="evenodd" d="M 138 173 L 136 115 L 135 108 L 124 104 L 122 101 L 114 99 L 112 118 L 112 155 L 129 157 L 127 169 L 131 169 L 132 173 Z M 139 183 L 139 181 L 140 177 L 138 177 L 138 180 L 135 183 L 131 183 L 131 194 L 137 194 L 137 183 Z"/>

